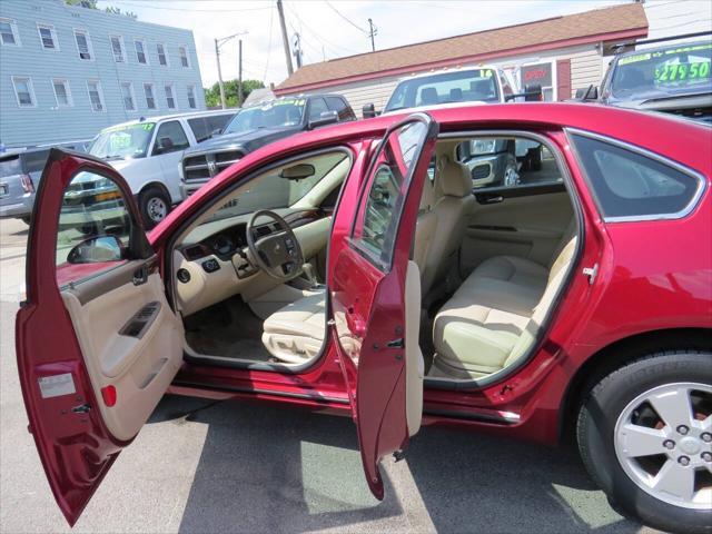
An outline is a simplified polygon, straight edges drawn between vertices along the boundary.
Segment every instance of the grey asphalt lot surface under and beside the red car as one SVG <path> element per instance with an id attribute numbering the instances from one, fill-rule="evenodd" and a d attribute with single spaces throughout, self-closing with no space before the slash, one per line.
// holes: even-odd
<path id="1" fill-rule="evenodd" d="M 26 237 L 0 220 L 0 531 L 69 532 L 18 384 Z M 168 396 L 73 532 L 654 532 L 621 517 L 572 449 L 426 427 L 383 465 L 379 503 L 348 418 Z"/>

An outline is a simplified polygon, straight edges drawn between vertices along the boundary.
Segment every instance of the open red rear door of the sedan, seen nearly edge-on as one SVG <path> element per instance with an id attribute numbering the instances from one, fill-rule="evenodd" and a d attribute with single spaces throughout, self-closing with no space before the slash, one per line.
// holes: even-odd
<path id="1" fill-rule="evenodd" d="M 409 260 L 437 123 L 417 113 L 387 132 L 363 180 L 350 231 L 336 235 L 330 277 L 334 338 L 349 389 L 364 471 L 383 498 L 379 459 L 421 426 L 421 279 Z"/>

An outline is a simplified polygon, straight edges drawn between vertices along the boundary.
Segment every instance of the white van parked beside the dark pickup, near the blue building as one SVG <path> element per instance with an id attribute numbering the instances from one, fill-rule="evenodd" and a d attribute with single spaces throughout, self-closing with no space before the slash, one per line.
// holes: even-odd
<path id="1" fill-rule="evenodd" d="M 152 228 L 182 200 L 182 151 L 220 134 L 235 113 L 226 109 L 130 120 L 101 130 L 88 152 L 121 171 L 144 225 Z"/>

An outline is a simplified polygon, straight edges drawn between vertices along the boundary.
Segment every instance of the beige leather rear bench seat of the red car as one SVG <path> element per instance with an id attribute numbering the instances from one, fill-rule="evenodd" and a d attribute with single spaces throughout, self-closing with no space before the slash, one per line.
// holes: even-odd
<path id="1" fill-rule="evenodd" d="M 564 283 L 576 250 L 575 221 L 548 266 L 514 256 L 483 261 L 435 316 L 429 377 L 479 378 L 523 358 Z"/>

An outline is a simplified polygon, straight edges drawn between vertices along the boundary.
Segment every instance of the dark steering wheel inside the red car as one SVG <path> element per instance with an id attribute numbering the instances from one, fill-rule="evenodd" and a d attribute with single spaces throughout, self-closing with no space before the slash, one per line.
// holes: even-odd
<path id="1" fill-rule="evenodd" d="M 268 217 L 279 225 L 279 230 L 255 239 L 255 222 Z M 304 255 L 299 241 L 285 219 L 274 211 L 255 211 L 247 222 L 247 248 L 257 266 L 273 278 L 290 280 L 301 271 Z"/>

